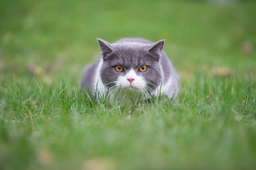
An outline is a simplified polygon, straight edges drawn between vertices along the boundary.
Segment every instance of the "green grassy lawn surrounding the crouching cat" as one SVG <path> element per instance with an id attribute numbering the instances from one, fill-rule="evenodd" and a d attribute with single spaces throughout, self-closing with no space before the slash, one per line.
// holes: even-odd
<path id="1" fill-rule="evenodd" d="M 255 8 L 1 1 L 0 169 L 255 169 Z M 81 93 L 96 38 L 123 37 L 166 40 L 176 100 L 128 113 Z"/>

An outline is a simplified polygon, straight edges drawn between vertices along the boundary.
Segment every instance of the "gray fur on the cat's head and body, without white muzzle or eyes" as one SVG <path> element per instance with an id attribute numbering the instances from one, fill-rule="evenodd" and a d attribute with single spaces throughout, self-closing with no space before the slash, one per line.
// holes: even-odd
<path id="1" fill-rule="evenodd" d="M 103 62 L 100 70 L 100 79 L 107 88 L 114 86 L 118 77 L 125 76 L 130 70 L 138 70 L 142 65 L 148 66 L 146 72 L 137 71 L 136 74 L 143 77 L 152 91 L 159 86 L 168 85 L 165 95 L 169 98 L 176 96 L 179 91 L 179 78 L 169 61 L 165 52 L 162 51 L 165 40 L 150 42 L 140 38 L 123 38 L 114 43 L 108 43 L 98 39 L 102 51 Z M 89 64 L 82 75 L 82 86 L 84 88 L 94 89 L 94 79 L 96 77 L 96 68 L 100 60 L 94 64 Z M 116 72 L 115 66 L 121 65 L 123 72 Z M 111 83 L 113 82 L 113 83 Z M 151 92 L 152 92 L 151 91 Z"/>

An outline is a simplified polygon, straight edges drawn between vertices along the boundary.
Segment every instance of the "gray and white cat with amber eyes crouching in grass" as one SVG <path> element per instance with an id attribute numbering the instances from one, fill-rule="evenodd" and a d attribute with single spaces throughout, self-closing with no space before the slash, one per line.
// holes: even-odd
<path id="1" fill-rule="evenodd" d="M 97 40 L 102 55 L 98 62 L 84 68 L 84 89 L 99 96 L 108 91 L 109 103 L 113 102 L 116 91 L 116 99 L 121 102 L 126 94 L 131 100 L 139 96 L 144 99 L 159 95 L 177 96 L 179 77 L 162 51 L 165 40 L 155 43 L 140 38 L 123 38 L 114 43 Z"/>

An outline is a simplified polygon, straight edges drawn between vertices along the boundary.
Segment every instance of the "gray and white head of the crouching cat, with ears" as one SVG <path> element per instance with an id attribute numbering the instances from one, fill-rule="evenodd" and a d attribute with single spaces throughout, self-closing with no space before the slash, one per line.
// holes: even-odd
<path id="1" fill-rule="evenodd" d="M 160 57 L 165 40 L 155 43 L 118 42 L 98 39 L 103 63 L 100 77 L 108 89 L 153 92 L 162 81 Z"/>

